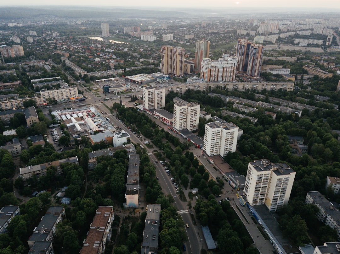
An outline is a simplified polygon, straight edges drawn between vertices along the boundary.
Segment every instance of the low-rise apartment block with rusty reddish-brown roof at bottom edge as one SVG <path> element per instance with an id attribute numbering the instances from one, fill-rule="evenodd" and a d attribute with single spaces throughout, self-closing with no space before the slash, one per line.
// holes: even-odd
<path id="1" fill-rule="evenodd" d="M 114 220 L 113 207 L 99 206 L 96 215 L 90 224 L 90 229 L 80 254 L 102 254 L 112 235 L 112 222 Z"/>

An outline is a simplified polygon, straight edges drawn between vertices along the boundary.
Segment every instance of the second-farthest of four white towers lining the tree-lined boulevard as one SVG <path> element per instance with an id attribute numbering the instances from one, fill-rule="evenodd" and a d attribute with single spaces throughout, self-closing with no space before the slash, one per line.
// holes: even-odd
<path id="1" fill-rule="evenodd" d="M 195 131 L 200 122 L 201 105 L 196 102 L 186 102 L 178 97 L 173 99 L 173 127 L 180 131 L 187 129 Z"/>

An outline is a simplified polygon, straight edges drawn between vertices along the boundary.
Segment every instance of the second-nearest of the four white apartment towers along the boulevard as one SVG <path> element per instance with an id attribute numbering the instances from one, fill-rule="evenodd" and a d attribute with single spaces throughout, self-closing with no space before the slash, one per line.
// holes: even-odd
<path id="1" fill-rule="evenodd" d="M 224 157 L 236 151 L 238 127 L 234 123 L 210 122 L 205 124 L 204 151 L 208 156 Z"/>

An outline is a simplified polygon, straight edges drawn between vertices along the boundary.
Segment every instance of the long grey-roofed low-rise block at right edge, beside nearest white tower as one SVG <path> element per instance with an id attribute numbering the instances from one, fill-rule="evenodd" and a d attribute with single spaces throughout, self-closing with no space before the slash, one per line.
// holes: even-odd
<path id="1" fill-rule="evenodd" d="M 332 229 L 335 229 L 340 237 L 340 211 L 331 202 L 329 202 L 318 191 L 307 192 L 306 200 L 307 204 L 314 204 L 319 208 L 316 216 L 318 220 L 325 223 Z"/>

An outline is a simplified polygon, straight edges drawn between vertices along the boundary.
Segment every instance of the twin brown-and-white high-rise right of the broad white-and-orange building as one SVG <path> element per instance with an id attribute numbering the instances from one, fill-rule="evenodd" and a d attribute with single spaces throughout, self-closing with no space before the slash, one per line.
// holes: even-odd
<path id="1" fill-rule="evenodd" d="M 237 71 L 250 77 L 260 76 L 264 47 L 248 40 L 237 40 Z"/>

